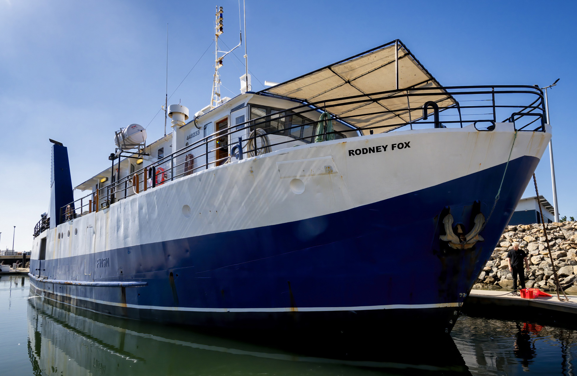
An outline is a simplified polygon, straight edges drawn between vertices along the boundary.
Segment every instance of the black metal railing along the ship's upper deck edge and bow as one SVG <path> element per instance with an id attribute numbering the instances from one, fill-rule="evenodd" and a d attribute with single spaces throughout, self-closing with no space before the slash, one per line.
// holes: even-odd
<path id="1" fill-rule="evenodd" d="M 270 96 L 283 98 L 278 95 Z M 443 98 L 439 99 L 440 96 Z M 500 100 L 505 96 L 509 101 L 501 102 Z M 413 99 L 408 100 L 410 97 Z M 415 97 L 418 100 L 415 101 Z M 436 101 L 433 97 L 436 97 Z M 446 101 L 449 97 L 455 100 L 454 104 L 438 106 L 437 102 Z M 368 100 L 368 98 L 370 99 Z M 407 99 L 407 107 L 396 107 L 395 110 L 389 110 L 381 104 L 378 107 L 362 106 L 366 112 L 349 116 L 339 116 L 336 111 L 343 104 L 361 106 L 368 101 L 377 103 L 381 100 L 398 98 Z M 529 104 L 516 103 L 520 101 Z M 410 105 L 415 103 L 418 103 L 420 107 L 415 108 L 413 106 L 411 108 Z M 331 111 L 333 108 L 335 111 Z M 410 121 L 402 118 L 403 114 L 410 114 L 415 110 L 422 110 L 422 116 Z M 376 123 L 362 129 L 351 126 L 350 129 L 328 131 L 325 127 L 323 133 L 316 135 L 319 121 L 306 117 L 306 114 L 312 111 L 327 111 L 331 113 L 332 120 L 340 124 L 348 124 L 347 119 L 349 118 L 383 114 L 389 114 L 391 117 L 397 116 L 399 120 L 396 123 L 387 123 L 387 125 Z M 433 121 L 429 118 L 430 111 L 434 115 Z M 242 159 L 243 155 L 248 155 L 248 157 L 261 155 L 271 151 L 276 146 L 291 142 L 305 144 L 327 140 L 331 134 L 336 138 L 355 137 L 359 130 L 365 134 L 373 134 L 374 130 L 387 132 L 409 128 L 422 129 L 431 126 L 446 128 L 473 124 L 478 130 L 491 131 L 494 129 L 497 119 L 502 119 L 501 122 L 513 123 L 515 130 L 545 131 L 543 92 L 538 87 L 529 85 L 409 88 L 402 91 L 384 91 L 302 103 L 299 106 L 275 111 L 215 131 L 201 140 L 130 173 L 128 176 L 116 178 L 107 186 L 100 187 L 95 192 L 63 206 L 60 211 L 61 221 L 74 219 L 93 211 L 98 212 L 98 210 L 107 208 L 118 200 L 163 185 L 167 181 L 174 181 L 200 170 L 228 163 L 235 156 Z M 194 119 L 194 123 L 196 125 L 196 119 Z M 306 135 L 305 130 L 307 131 Z M 290 145 L 286 145 L 286 147 L 290 147 Z M 231 155 L 231 152 L 234 153 L 234 156 Z"/>

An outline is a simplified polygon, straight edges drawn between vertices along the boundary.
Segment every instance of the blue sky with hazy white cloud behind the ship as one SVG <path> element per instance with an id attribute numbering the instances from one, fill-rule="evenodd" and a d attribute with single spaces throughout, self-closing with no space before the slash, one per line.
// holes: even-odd
<path id="1" fill-rule="evenodd" d="M 253 89 L 401 39 L 443 85 L 549 85 L 561 215 L 577 216 L 574 2 L 247 2 Z M 68 146 L 74 185 L 108 166 L 114 130 L 139 123 L 162 136 L 166 24 L 168 93 L 211 44 L 215 6 L 223 41 L 238 43 L 238 1 L 0 0 L 0 248 L 29 250 L 50 198 L 48 138 Z M 170 103 L 194 113 L 210 98 L 212 49 Z M 242 59 L 243 51 L 236 56 Z M 223 95 L 239 92 L 234 56 Z M 552 201 L 548 153 L 537 168 Z M 534 195 L 530 187 L 526 196 Z"/>

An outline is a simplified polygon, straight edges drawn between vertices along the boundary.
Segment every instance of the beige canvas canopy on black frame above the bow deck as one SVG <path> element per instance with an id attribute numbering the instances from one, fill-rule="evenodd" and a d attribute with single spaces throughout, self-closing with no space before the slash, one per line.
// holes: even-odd
<path id="1" fill-rule="evenodd" d="M 372 93 L 383 91 L 395 91 L 387 93 L 387 97 L 398 96 L 400 93 L 428 95 L 373 100 L 384 95 Z M 357 99 L 327 102 L 327 105 L 339 104 L 336 107 L 327 107 L 327 111 L 361 129 L 384 126 L 374 129 L 374 133 L 389 131 L 421 118 L 422 107 L 426 101 L 432 100 L 439 107 L 456 103 L 399 40 L 267 88 L 261 93 L 290 97 L 305 103 L 360 95 Z M 356 103 L 350 103 L 351 101 Z M 323 107 L 322 104 L 317 106 Z M 364 133 L 369 132 L 365 130 Z"/>

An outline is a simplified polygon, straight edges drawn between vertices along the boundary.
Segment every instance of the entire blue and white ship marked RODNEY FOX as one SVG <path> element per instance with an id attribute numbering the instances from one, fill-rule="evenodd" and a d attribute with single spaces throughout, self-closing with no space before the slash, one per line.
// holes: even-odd
<path id="1" fill-rule="evenodd" d="M 443 86 L 394 40 L 261 91 L 247 68 L 228 98 L 216 56 L 211 104 L 165 107 L 150 144 L 118 131 L 87 195 L 51 140 L 32 294 L 224 332 L 449 333 L 550 140 L 541 89 Z"/>

